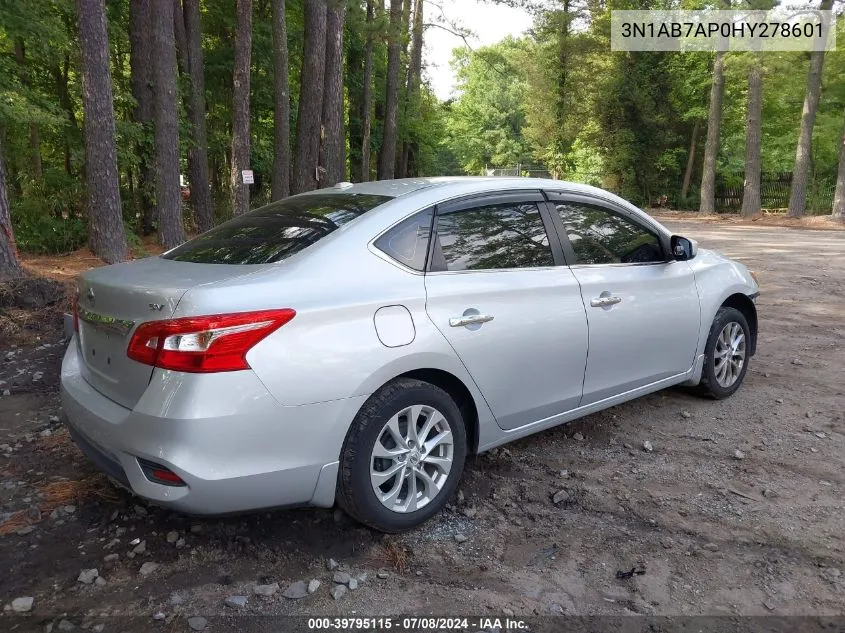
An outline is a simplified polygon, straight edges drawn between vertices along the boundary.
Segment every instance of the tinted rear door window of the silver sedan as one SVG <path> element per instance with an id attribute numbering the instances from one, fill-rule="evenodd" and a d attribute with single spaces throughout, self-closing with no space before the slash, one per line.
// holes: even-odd
<path id="1" fill-rule="evenodd" d="M 534 202 L 492 204 L 439 215 L 437 240 L 440 270 L 554 265 L 549 237 Z"/>

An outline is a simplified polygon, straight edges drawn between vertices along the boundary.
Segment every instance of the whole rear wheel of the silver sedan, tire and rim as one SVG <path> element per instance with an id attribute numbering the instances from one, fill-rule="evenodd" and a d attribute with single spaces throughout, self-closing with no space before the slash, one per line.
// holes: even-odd
<path id="1" fill-rule="evenodd" d="M 355 417 L 341 454 L 337 500 L 354 518 L 401 532 L 431 518 L 457 488 L 466 430 L 448 393 L 399 379 Z"/>

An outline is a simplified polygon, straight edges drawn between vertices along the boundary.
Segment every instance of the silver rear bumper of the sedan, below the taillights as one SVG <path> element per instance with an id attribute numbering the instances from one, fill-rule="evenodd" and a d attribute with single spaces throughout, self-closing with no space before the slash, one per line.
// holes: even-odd
<path id="1" fill-rule="evenodd" d="M 71 341 L 61 376 L 71 436 L 138 496 L 196 515 L 334 503 L 340 450 L 365 397 L 285 407 L 251 371 L 157 370 L 127 409 L 85 381 L 77 349 Z M 150 481 L 139 458 L 186 485 Z"/>

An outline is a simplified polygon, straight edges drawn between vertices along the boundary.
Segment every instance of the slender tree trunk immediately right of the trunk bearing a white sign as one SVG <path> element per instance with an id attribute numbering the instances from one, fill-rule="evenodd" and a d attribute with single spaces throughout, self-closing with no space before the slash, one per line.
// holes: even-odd
<path id="1" fill-rule="evenodd" d="M 290 59 L 285 0 L 273 0 L 273 182 L 271 200 L 290 195 Z"/>

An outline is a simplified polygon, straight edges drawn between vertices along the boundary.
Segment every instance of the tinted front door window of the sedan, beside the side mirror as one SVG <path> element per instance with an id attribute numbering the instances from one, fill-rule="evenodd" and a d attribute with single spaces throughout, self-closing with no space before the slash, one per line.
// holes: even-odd
<path id="1" fill-rule="evenodd" d="M 648 264 L 663 262 L 657 235 L 607 209 L 580 202 L 555 205 L 577 264 Z"/>

